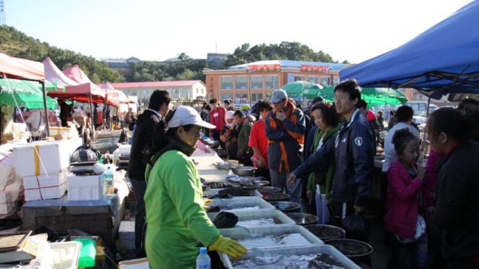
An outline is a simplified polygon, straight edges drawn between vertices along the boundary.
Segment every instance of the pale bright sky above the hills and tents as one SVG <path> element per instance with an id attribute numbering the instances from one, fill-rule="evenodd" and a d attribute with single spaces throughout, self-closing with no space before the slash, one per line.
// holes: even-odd
<path id="1" fill-rule="evenodd" d="M 96 58 L 165 60 L 297 41 L 359 63 L 470 0 L 5 0 L 6 23 Z"/>

